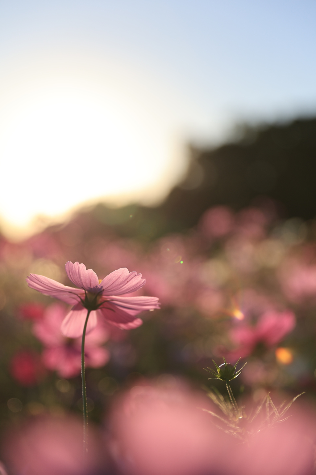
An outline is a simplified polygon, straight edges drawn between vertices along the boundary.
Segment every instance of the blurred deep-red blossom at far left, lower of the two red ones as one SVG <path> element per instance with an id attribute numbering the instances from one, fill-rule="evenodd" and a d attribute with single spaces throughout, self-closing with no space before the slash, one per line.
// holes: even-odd
<path id="1" fill-rule="evenodd" d="M 10 372 L 21 386 L 33 386 L 45 375 L 39 355 L 29 350 L 17 352 L 10 361 Z"/>

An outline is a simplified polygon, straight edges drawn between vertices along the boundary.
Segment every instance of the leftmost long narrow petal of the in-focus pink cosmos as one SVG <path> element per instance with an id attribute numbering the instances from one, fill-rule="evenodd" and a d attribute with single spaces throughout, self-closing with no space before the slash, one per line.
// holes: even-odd
<path id="1" fill-rule="evenodd" d="M 37 290 L 41 294 L 58 298 L 59 300 L 66 302 L 66 304 L 77 304 L 80 301 L 79 295 L 84 296 L 82 295 L 81 289 L 75 289 L 68 285 L 60 284 L 53 279 L 39 276 L 38 274 L 30 274 L 26 281 L 31 289 Z"/>

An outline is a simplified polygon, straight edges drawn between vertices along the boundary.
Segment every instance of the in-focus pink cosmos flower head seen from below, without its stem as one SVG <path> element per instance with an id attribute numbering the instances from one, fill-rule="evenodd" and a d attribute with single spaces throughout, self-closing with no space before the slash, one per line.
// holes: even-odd
<path id="1" fill-rule="evenodd" d="M 26 280 L 32 289 L 73 305 L 61 326 L 63 335 L 69 338 L 82 335 L 87 310 L 90 310 L 87 325 L 89 333 L 97 325 L 97 316 L 105 318 L 112 325 L 129 330 L 143 323 L 140 318 L 135 318 L 140 312 L 160 308 L 157 297 L 128 295 L 141 289 L 146 279 L 141 274 L 129 272 L 126 267 L 111 272 L 102 281 L 92 269 L 87 270 L 79 262 L 72 264 L 68 261 L 65 269 L 69 279 L 79 288 L 69 287 L 37 274 L 30 274 Z"/>

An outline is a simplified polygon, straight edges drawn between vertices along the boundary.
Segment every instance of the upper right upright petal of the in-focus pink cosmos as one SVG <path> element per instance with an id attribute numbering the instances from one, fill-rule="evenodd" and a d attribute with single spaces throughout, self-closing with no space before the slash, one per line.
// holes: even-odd
<path id="1" fill-rule="evenodd" d="M 108 274 L 99 285 L 103 288 L 103 295 L 122 295 L 129 294 L 141 289 L 146 283 L 146 279 L 142 279 L 142 274 L 137 272 L 129 272 L 126 267 Z"/>

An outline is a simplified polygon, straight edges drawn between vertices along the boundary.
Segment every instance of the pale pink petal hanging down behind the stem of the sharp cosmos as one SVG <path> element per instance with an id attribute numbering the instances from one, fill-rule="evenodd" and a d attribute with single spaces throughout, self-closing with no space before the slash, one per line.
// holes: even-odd
<path id="1" fill-rule="evenodd" d="M 87 318 L 87 309 L 84 308 L 81 304 L 77 304 L 72 307 L 69 314 L 63 319 L 63 323 L 60 327 L 61 332 L 64 336 L 68 338 L 79 338 L 82 336 L 84 323 Z M 87 331 L 89 333 L 93 328 L 97 326 L 97 313 L 96 311 L 90 312 Z"/>

